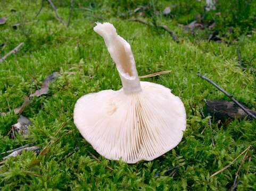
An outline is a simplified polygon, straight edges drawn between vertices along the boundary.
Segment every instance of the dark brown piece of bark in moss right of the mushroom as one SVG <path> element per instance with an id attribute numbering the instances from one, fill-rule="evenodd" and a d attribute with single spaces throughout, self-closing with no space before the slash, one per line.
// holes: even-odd
<path id="1" fill-rule="evenodd" d="M 246 108 L 246 107 L 245 107 Z M 246 108 L 247 109 L 247 108 Z M 247 109 L 249 110 L 249 109 Z M 249 110 L 256 115 L 256 111 Z M 216 120 L 225 121 L 226 119 L 244 119 L 248 116 L 243 109 L 238 107 L 234 102 L 224 100 L 207 100 L 207 112 Z"/>

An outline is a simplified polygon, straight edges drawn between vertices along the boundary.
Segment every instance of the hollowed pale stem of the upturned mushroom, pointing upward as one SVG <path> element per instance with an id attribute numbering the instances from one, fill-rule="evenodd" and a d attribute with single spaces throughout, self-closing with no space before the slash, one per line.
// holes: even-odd
<path id="1" fill-rule="evenodd" d="M 117 66 L 122 81 L 123 91 L 126 94 L 141 92 L 136 64 L 129 43 L 117 34 L 110 23 L 96 23 L 94 31 L 103 37 L 111 58 Z"/>

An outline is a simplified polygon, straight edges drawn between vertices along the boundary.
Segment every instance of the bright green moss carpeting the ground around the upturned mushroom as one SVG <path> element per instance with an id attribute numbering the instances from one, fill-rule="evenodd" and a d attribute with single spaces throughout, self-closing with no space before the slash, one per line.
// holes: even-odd
<path id="1" fill-rule="evenodd" d="M 219 175 L 210 176 L 233 161 L 247 146 L 255 146 L 256 123 L 255 120 L 234 120 L 224 126 L 213 121 L 211 129 L 208 118 L 201 115 L 203 99 L 228 98 L 202 81 L 196 73 L 207 75 L 239 101 L 255 109 L 255 73 L 243 71 L 238 66 L 236 54 L 238 47 L 245 67 L 256 67 L 255 34 L 251 38 L 240 36 L 235 45 L 227 46 L 184 34 L 176 21 L 156 16 L 156 22 L 167 24 L 177 33 L 180 43 L 176 44 L 165 31 L 118 19 L 113 14 L 117 13 L 118 7 L 113 7 L 112 2 L 100 1 L 88 4 L 77 1 L 71 25 L 66 29 L 54 18 L 54 12 L 46 2 L 37 18 L 40 2 L 29 2 L 28 5 L 28 1 L 3 1 L 0 7 L 0 16 L 7 16 L 6 24 L 0 25 L 0 44 L 6 44 L 4 49 L 0 48 L 0 54 L 5 55 L 24 42 L 16 56 L 11 55 L 0 63 L 0 112 L 9 111 L 9 106 L 19 107 L 24 96 L 35 92 L 46 76 L 60 72 L 61 77 L 51 84 L 48 94 L 32 99 L 24 111 L 23 115 L 32 121 L 26 139 L 18 137 L 12 140 L 7 136 L 17 116 L 0 116 L 0 153 L 32 142 L 41 147 L 51 140 L 56 142 L 45 155 L 23 152 L 5 161 L 0 167 L 0 187 L 3 190 L 226 190 L 233 185 L 243 157 Z M 202 2 L 196 2 L 199 9 Z M 120 4 L 128 4 L 127 9 L 137 6 L 135 1 Z M 163 9 L 166 5 L 167 2 L 161 2 L 155 7 Z M 69 1 L 56 2 L 56 6 L 67 22 Z M 90 8 L 90 13 L 81 7 Z M 11 12 L 11 9 L 16 12 Z M 194 13 L 192 10 L 191 18 Z M 184 19 L 181 11 L 176 14 L 178 20 L 192 20 Z M 73 106 L 79 97 L 90 92 L 121 88 L 118 72 L 104 42 L 93 31 L 97 16 L 112 22 L 118 33 L 128 39 L 139 75 L 172 70 L 168 75 L 144 79 L 170 88 L 183 100 L 187 112 L 183 140 L 158 159 L 137 164 L 106 160 L 81 137 L 73 124 Z M 21 26 L 14 30 L 12 24 L 17 22 Z M 189 103 L 195 105 L 196 112 L 192 112 Z M 63 124 L 64 128 L 54 137 Z M 238 179 L 242 183 L 238 190 L 256 188 L 253 149 L 249 156 L 251 161 L 246 160 L 239 173 Z M 0 155 L 0 159 L 3 157 Z M 171 172 L 165 173 L 177 166 L 174 176 L 170 175 Z"/>

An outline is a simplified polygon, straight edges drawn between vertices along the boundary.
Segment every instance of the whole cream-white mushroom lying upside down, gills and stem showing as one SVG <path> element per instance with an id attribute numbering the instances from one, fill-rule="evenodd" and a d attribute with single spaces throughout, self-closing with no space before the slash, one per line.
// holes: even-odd
<path id="1" fill-rule="evenodd" d="M 160 157 L 183 137 L 183 102 L 163 85 L 139 81 L 130 45 L 111 23 L 96 23 L 94 31 L 103 37 L 123 88 L 79 98 L 74 109 L 75 125 L 107 159 L 136 163 Z"/>

